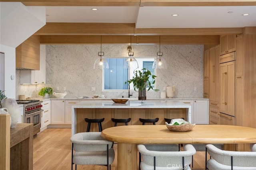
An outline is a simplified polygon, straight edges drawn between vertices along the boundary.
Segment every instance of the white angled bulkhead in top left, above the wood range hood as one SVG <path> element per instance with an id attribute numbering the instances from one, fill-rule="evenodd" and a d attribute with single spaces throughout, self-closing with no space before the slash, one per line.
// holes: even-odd
<path id="1" fill-rule="evenodd" d="M 45 11 L 43 6 L 0 2 L 0 44 L 18 47 L 46 24 Z"/>

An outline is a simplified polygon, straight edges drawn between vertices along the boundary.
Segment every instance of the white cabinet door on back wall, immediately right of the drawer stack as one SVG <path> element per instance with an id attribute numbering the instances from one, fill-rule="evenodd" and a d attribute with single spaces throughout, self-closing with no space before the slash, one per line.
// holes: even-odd
<path id="1" fill-rule="evenodd" d="M 65 124 L 65 101 L 51 101 L 51 124 Z"/>

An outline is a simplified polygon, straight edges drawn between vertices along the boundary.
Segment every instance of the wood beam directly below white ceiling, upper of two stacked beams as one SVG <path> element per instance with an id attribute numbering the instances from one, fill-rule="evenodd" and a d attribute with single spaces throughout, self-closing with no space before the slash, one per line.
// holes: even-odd
<path id="1" fill-rule="evenodd" d="M 34 35 L 226 35 L 243 28 L 135 28 L 135 23 L 46 23 Z"/>

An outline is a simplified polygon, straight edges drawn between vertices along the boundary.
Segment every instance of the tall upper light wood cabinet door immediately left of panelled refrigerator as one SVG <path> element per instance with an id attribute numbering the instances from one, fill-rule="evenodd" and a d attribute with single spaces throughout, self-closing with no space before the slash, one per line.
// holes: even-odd
<path id="1" fill-rule="evenodd" d="M 219 57 L 219 45 L 209 49 L 209 100 L 213 101 L 219 101 L 220 98 Z"/>

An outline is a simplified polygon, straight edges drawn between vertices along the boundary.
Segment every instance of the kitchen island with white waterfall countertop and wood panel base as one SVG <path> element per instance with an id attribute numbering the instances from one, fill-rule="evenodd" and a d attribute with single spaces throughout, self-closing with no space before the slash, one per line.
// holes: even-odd
<path id="1" fill-rule="evenodd" d="M 117 104 L 112 101 L 82 101 L 72 106 L 72 135 L 85 132 L 87 123 L 84 118 L 105 118 L 102 128 L 113 127 L 111 118 L 127 119 L 131 117 L 128 125 L 141 125 L 139 118 L 153 119 L 158 117 L 157 125 L 164 125 L 164 118 L 175 119 L 184 117 L 191 122 L 191 106 L 179 101 L 146 100 L 140 103 L 138 100 L 129 100 L 126 104 Z M 98 125 L 93 123 L 90 131 L 98 131 Z"/>

